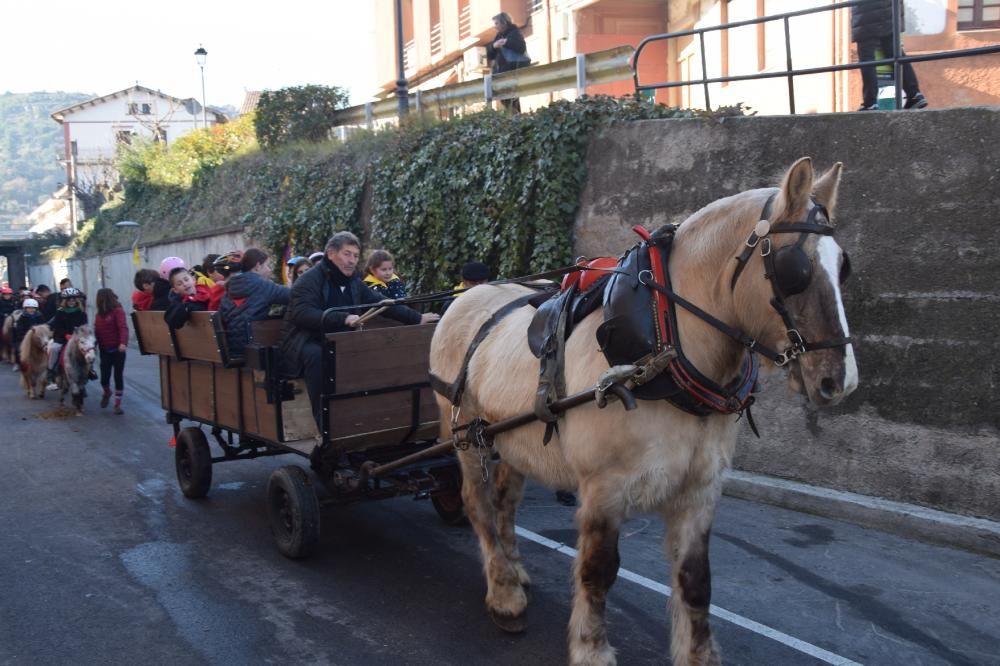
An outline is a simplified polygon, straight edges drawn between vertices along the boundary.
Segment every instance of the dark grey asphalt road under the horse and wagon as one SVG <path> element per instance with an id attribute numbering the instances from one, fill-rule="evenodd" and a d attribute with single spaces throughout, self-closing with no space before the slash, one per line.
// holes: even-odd
<path id="1" fill-rule="evenodd" d="M 0 663 L 564 664 L 573 509 L 529 489 L 529 629 L 501 633 L 468 528 L 429 502 L 327 510 L 320 552 L 290 561 L 264 509 L 288 457 L 216 465 L 177 488 L 156 365 L 134 350 L 125 415 L 28 401 L 0 367 Z M 663 525 L 621 540 L 609 598 L 619 663 L 669 663 Z M 565 546 L 563 544 L 568 544 Z M 711 544 L 726 664 L 1000 663 L 1000 560 L 735 499 Z"/>

